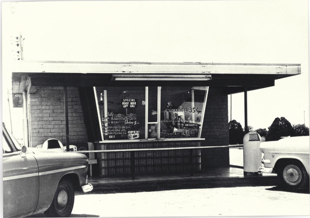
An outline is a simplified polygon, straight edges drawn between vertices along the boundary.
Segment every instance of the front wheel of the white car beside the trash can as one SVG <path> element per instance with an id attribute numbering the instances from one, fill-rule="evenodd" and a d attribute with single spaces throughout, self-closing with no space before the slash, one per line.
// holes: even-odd
<path id="1" fill-rule="evenodd" d="M 278 172 L 280 185 L 284 188 L 304 188 L 309 180 L 305 168 L 298 163 L 290 163 L 280 168 Z"/>

